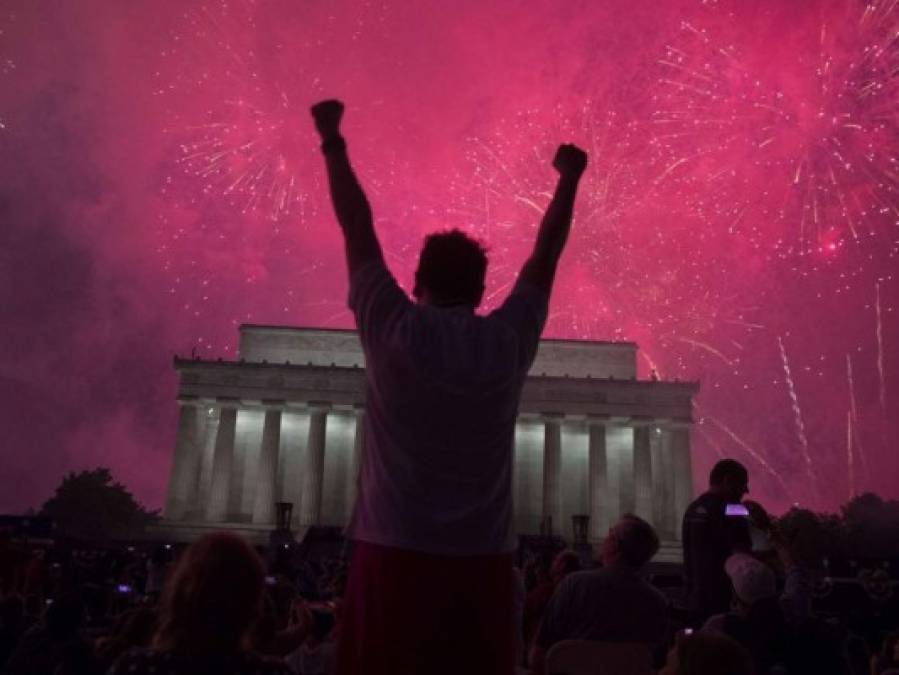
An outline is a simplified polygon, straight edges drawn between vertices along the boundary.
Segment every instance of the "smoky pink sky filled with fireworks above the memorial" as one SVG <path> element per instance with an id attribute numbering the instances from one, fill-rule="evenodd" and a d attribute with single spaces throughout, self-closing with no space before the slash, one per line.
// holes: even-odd
<path id="1" fill-rule="evenodd" d="M 763 501 L 833 508 L 851 416 L 855 488 L 895 497 L 884 7 L 4 3 L 0 512 L 97 465 L 158 507 L 173 354 L 233 357 L 241 322 L 351 325 L 307 114 L 324 96 L 347 103 L 401 283 L 424 233 L 462 227 L 490 246 L 495 301 L 554 146 L 579 143 L 590 172 L 547 335 L 636 340 L 644 376 L 700 380 L 699 484 L 730 455 Z"/>

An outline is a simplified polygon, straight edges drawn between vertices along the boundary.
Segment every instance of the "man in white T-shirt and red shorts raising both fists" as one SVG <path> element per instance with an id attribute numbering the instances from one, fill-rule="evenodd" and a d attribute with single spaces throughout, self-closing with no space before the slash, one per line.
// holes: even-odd
<path id="1" fill-rule="evenodd" d="M 459 231 L 425 239 L 413 303 L 388 271 L 340 135 L 312 108 L 346 241 L 365 351 L 365 452 L 338 672 L 511 674 L 512 448 L 587 156 L 561 146 L 534 251 L 501 307 L 475 314 L 487 257 Z"/>

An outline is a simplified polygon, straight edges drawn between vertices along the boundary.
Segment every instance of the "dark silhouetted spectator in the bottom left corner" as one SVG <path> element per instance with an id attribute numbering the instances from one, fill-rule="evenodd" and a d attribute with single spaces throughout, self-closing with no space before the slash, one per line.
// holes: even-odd
<path id="1" fill-rule="evenodd" d="M 8 675 L 90 675 L 98 672 L 90 643 L 82 636 L 84 603 L 75 594 L 56 598 L 6 663 Z"/>

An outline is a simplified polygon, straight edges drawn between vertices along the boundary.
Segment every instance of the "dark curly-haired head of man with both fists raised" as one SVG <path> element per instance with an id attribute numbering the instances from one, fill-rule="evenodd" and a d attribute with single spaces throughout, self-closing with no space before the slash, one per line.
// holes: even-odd
<path id="1" fill-rule="evenodd" d="M 429 305 L 475 309 L 484 295 L 486 275 L 487 252 L 480 242 L 460 230 L 429 234 L 418 258 L 412 295 Z"/>

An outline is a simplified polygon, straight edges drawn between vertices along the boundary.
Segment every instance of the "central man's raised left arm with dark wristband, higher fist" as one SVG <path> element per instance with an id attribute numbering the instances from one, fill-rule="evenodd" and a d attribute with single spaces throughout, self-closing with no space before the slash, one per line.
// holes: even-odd
<path id="1" fill-rule="evenodd" d="M 371 206 L 356 174 L 350 166 L 346 141 L 340 135 L 343 103 L 321 101 L 312 106 L 315 128 L 322 139 L 322 153 L 328 169 L 331 203 L 346 243 L 347 266 L 350 274 L 373 260 L 383 260 L 381 245 L 375 235 Z"/>

